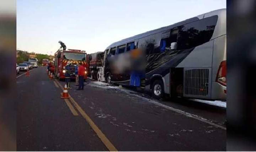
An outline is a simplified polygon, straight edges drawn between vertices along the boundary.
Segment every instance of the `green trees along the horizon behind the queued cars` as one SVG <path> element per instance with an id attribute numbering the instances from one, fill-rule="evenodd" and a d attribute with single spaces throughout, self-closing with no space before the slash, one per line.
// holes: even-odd
<path id="1" fill-rule="evenodd" d="M 31 55 L 34 55 L 35 58 L 38 59 L 38 63 L 42 63 L 43 59 L 50 59 L 49 55 L 47 54 L 38 54 L 38 53 L 30 53 L 27 51 L 21 51 L 17 50 L 17 63 L 23 63 L 24 61 L 28 61 L 28 58 L 30 58 Z"/>

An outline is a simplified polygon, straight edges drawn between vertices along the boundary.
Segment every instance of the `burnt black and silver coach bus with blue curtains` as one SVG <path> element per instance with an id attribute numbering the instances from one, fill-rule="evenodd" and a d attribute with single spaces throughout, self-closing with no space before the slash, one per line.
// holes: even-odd
<path id="1" fill-rule="evenodd" d="M 226 9 L 114 42 L 99 72 L 101 81 L 144 88 L 155 98 L 226 100 Z"/>

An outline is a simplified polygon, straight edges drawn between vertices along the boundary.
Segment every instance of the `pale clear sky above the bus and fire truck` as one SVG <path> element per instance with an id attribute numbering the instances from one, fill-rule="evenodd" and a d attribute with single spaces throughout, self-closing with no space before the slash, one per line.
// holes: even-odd
<path id="1" fill-rule="evenodd" d="M 17 49 L 104 51 L 111 43 L 209 11 L 226 0 L 17 0 Z"/>

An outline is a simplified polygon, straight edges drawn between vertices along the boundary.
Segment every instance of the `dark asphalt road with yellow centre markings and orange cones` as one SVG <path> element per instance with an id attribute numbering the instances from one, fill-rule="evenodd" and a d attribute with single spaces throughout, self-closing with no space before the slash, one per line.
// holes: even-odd
<path id="1" fill-rule="evenodd" d="M 60 98 L 64 82 L 46 68 L 17 78 L 18 151 L 225 151 L 225 110 L 156 101 L 129 89 L 85 82 Z"/>

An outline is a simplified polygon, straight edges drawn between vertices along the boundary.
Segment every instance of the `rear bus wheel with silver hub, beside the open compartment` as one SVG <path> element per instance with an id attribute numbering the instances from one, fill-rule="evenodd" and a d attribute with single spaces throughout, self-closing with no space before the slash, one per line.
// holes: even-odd
<path id="1" fill-rule="evenodd" d="M 155 80 L 152 83 L 151 93 L 156 99 L 164 98 L 164 84 L 161 80 Z"/>

